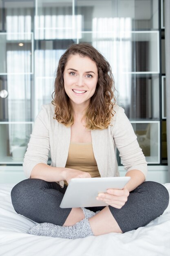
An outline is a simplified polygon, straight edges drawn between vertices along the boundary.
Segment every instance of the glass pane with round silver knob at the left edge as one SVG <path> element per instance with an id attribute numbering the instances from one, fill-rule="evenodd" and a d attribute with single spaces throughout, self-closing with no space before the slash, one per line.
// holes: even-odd
<path id="1" fill-rule="evenodd" d="M 31 75 L 0 76 L 0 121 L 33 120 L 32 87 Z"/>

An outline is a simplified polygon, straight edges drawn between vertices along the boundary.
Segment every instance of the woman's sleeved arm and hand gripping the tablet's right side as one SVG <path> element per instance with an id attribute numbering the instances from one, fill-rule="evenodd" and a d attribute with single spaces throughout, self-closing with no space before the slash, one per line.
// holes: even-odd
<path id="1" fill-rule="evenodd" d="M 128 200 L 129 192 L 145 181 L 147 163 L 124 110 L 122 108 L 117 109 L 116 115 L 112 135 L 127 170 L 126 176 L 131 177 L 131 179 L 124 189 L 108 189 L 107 193 L 100 193 L 97 200 L 102 200 L 120 209 Z"/>

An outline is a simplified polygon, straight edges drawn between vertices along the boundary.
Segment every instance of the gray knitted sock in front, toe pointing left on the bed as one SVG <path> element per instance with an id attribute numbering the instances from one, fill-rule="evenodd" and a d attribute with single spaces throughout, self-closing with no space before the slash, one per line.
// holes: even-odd
<path id="1" fill-rule="evenodd" d="M 60 238 L 77 239 L 84 238 L 86 236 L 94 236 L 88 219 L 77 222 L 73 226 L 57 226 L 52 223 L 39 223 L 31 227 L 28 234 L 36 236 L 52 236 Z"/>

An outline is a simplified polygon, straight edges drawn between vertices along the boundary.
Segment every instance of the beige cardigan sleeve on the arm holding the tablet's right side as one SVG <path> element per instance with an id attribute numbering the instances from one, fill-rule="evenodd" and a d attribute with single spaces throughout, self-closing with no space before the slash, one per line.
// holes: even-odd
<path id="1" fill-rule="evenodd" d="M 139 170 L 147 175 L 147 162 L 145 156 L 139 147 L 137 136 L 132 128 L 128 117 L 124 113 L 124 109 L 118 107 L 113 122 L 112 136 L 116 147 L 119 150 L 124 169 Z"/>

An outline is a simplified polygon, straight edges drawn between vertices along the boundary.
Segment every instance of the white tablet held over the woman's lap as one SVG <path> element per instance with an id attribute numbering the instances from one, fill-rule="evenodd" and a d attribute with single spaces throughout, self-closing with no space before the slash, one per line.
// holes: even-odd
<path id="1" fill-rule="evenodd" d="M 61 208 L 107 206 L 96 199 L 107 189 L 123 189 L 130 177 L 99 177 L 71 179 L 60 204 Z"/>

